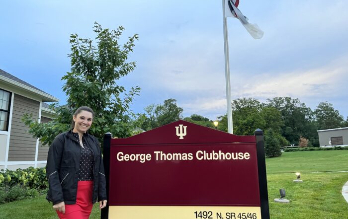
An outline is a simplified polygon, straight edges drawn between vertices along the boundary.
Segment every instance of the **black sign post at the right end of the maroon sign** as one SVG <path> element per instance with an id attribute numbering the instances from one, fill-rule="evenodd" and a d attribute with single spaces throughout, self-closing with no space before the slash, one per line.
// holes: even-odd
<path id="1" fill-rule="evenodd" d="M 264 156 L 265 154 L 264 154 L 263 131 L 261 129 L 257 129 L 255 131 L 255 137 L 256 137 L 256 150 L 258 155 L 261 218 L 269 219 L 268 189 L 267 189 L 267 175 L 266 175 L 266 160 Z"/>

